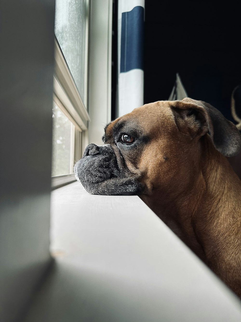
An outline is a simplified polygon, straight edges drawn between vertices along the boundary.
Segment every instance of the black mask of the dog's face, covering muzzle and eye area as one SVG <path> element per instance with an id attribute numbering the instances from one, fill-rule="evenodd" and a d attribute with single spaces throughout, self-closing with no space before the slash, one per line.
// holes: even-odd
<path id="1" fill-rule="evenodd" d="M 130 195 L 141 194 L 144 185 L 138 181 L 138 155 L 148 138 L 140 127 L 123 118 L 105 127 L 103 146 L 89 144 L 74 172 L 86 191 L 91 194 Z M 131 169 L 126 159 L 132 161 Z"/>

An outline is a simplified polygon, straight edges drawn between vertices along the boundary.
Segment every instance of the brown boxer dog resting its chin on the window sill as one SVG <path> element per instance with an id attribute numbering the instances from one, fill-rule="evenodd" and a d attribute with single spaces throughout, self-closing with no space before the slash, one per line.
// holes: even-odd
<path id="1" fill-rule="evenodd" d="M 134 109 L 105 128 L 75 166 L 92 194 L 140 198 L 241 296 L 241 181 L 225 156 L 239 131 L 211 105 L 193 99 Z"/>

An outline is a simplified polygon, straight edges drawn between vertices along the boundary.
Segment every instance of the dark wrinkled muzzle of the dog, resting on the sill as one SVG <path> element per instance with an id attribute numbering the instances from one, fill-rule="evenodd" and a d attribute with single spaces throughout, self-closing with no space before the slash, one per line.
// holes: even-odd
<path id="1" fill-rule="evenodd" d="M 138 175 L 129 172 L 118 148 L 110 144 L 88 145 L 74 172 L 90 194 L 131 195 L 140 194 L 145 188 Z"/>

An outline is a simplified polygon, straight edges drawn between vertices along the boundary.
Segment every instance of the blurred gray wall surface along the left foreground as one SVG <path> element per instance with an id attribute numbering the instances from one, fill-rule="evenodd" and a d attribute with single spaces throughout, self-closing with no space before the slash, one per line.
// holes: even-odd
<path id="1" fill-rule="evenodd" d="M 54 0 L 0 4 L 0 321 L 50 262 Z"/>

